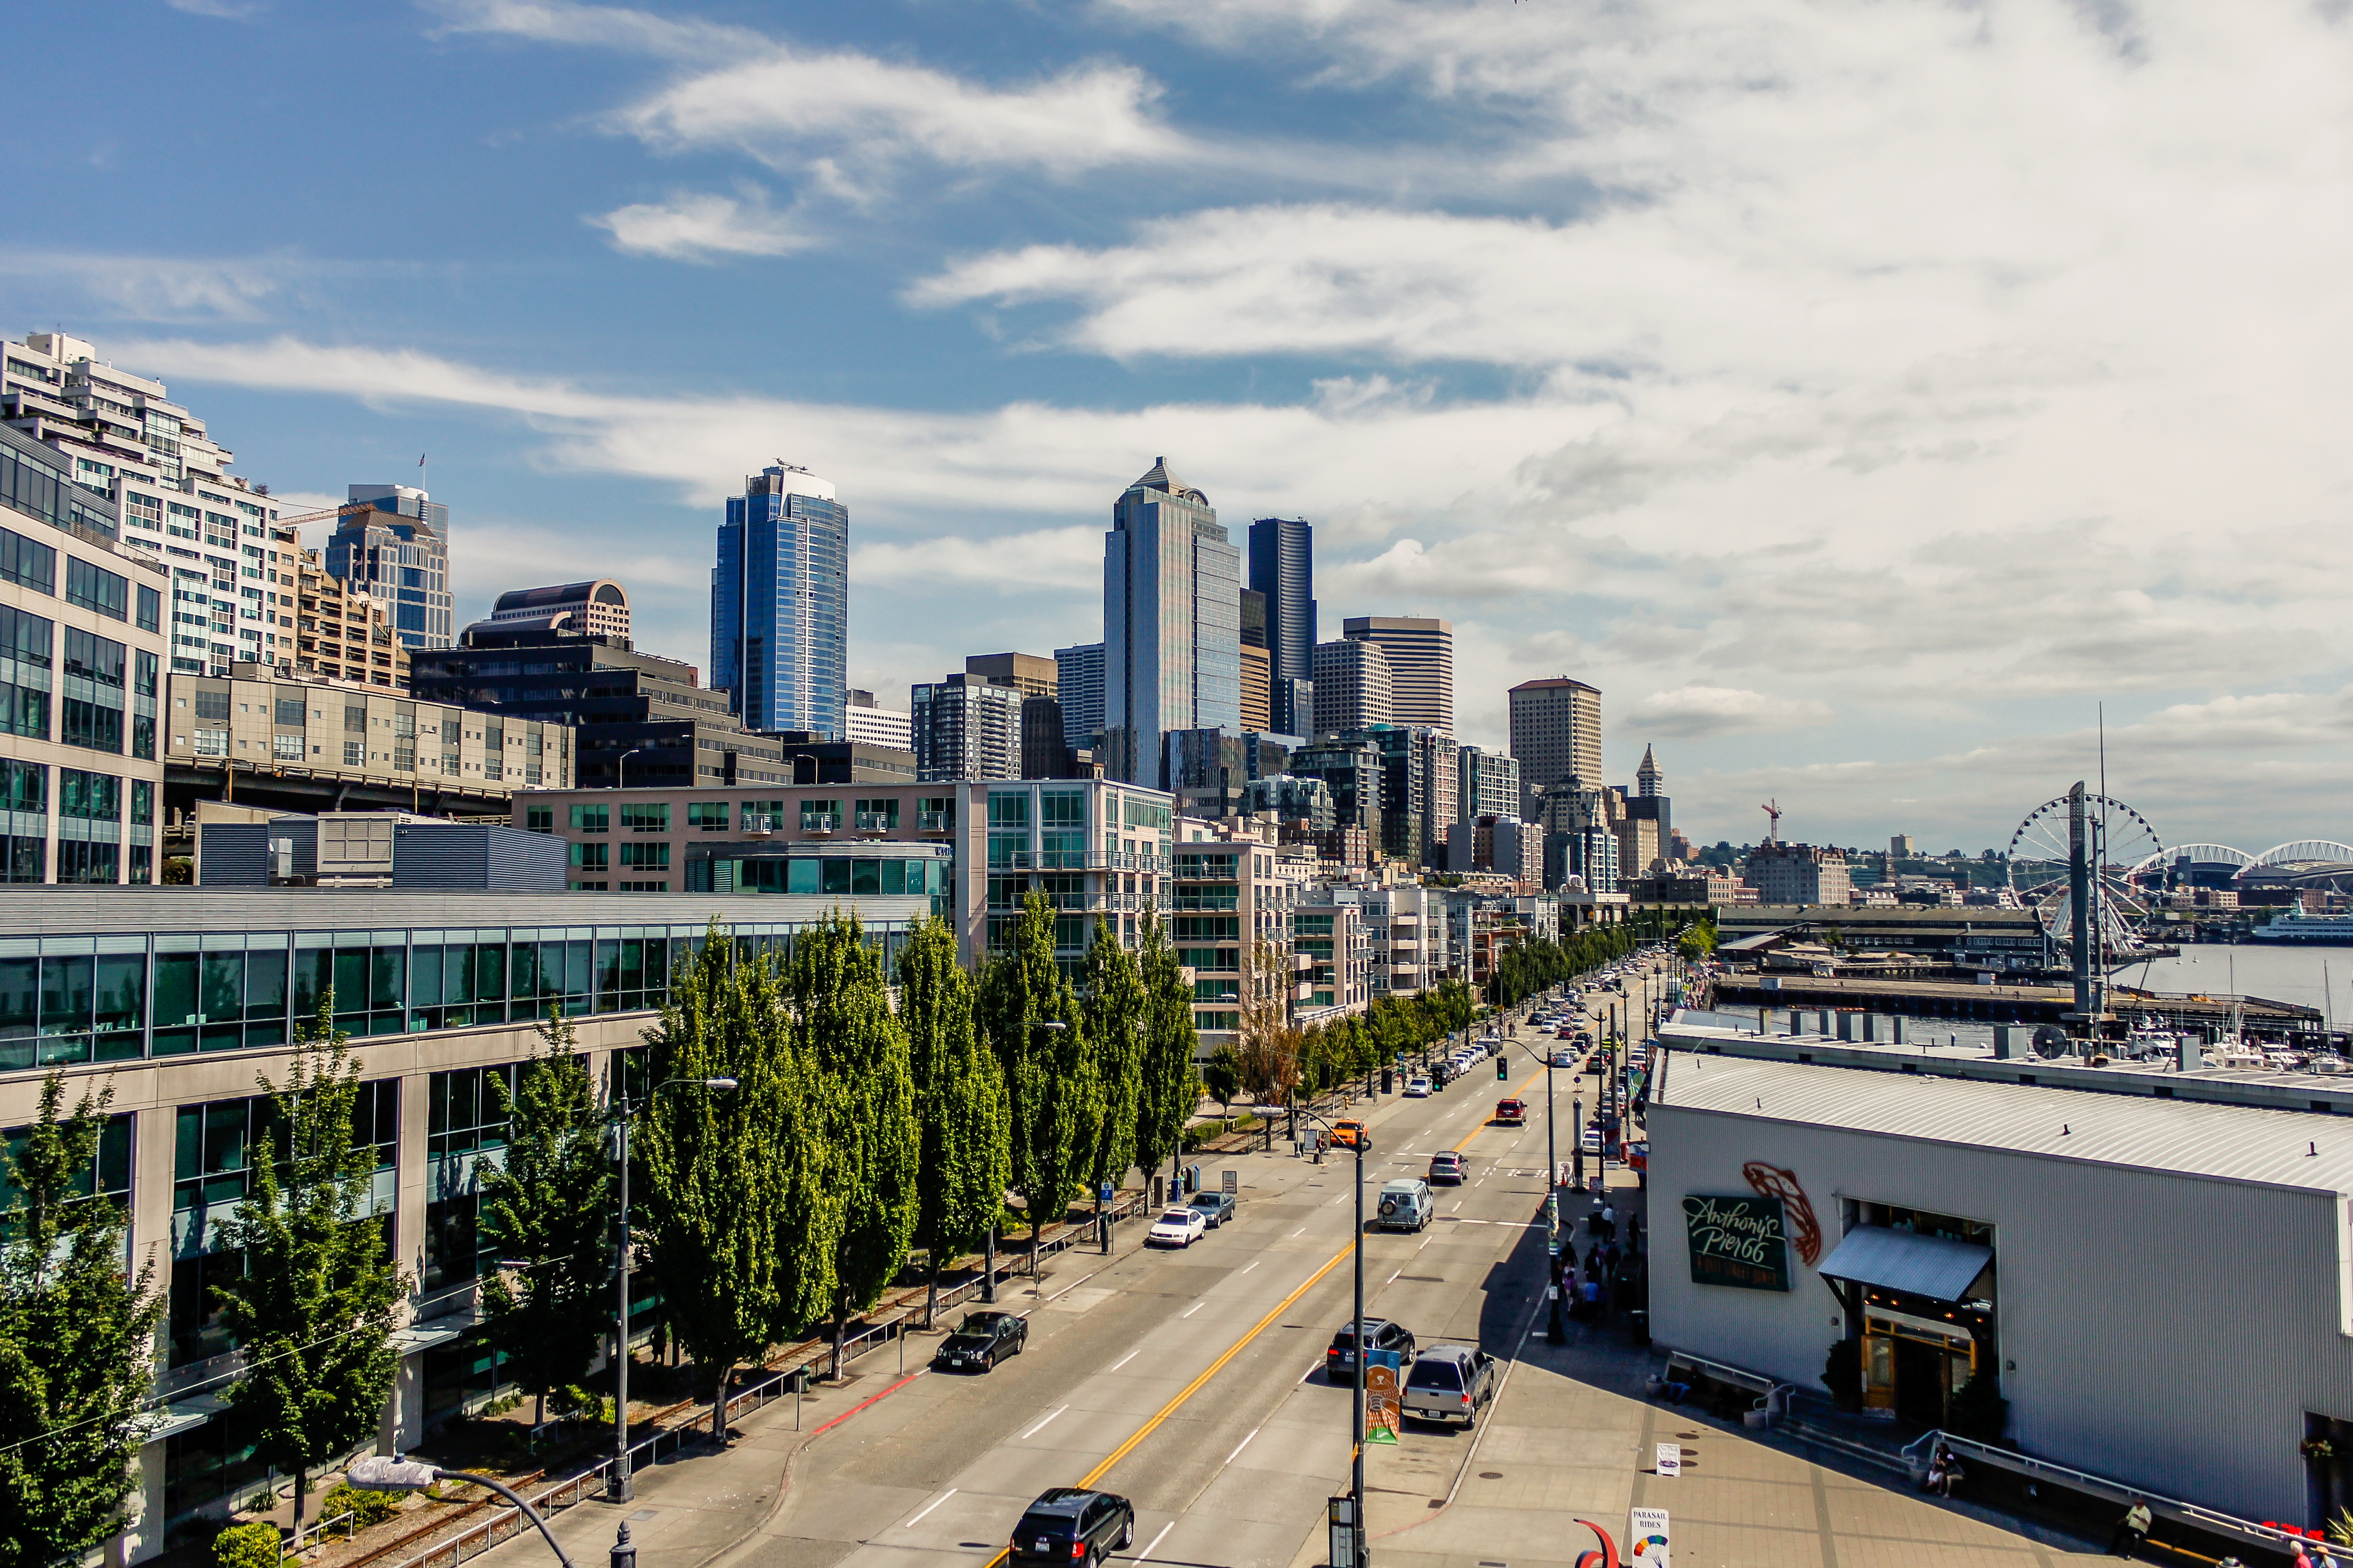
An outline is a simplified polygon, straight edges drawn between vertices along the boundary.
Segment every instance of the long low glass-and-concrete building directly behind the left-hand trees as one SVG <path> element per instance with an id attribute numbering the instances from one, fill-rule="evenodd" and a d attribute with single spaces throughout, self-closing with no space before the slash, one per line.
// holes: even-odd
<path id="1" fill-rule="evenodd" d="M 468 832 L 456 827 L 454 832 Z M 480 830 L 473 830 L 480 832 Z M 414 1281 L 400 1373 L 379 1443 L 480 1408 L 506 1382 L 464 1342 L 494 1265 L 478 1222 L 478 1161 L 541 1051 L 534 1023 L 572 1018 L 600 1086 L 642 1053 L 642 1030 L 718 919 L 744 950 L 774 947 L 849 907 L 887 950 L 929 912 L 922 896 L 649 896 L 188 889 L 0 893 L 0 1131 L 38 1114 L 40 1084 L 66 1098 L 111 1084 L 99 1180 L 129 1215 L 129 1255 L 155 1262 L 169 1316 L 160 1420 L 141 1450 L 134 1523 L 108 1561 L 202 1542 L 264 1483 L 252 1436 L 221 1399 L 238 1352 L 209 1284 L 240 1267 L 226 1215 L 266 1138 L 254 1074 L 282 1081 L 287 1041 L 329 990 L 360 1067 L 362 1138 L 376 1150 L 374 1208 Z M 607 917 L 607 919 L 600 919 Z M 494 1154 L 492 1154 L 494 1157 Z M 638 1321 L 656 1328 L 656 1314 Z"/>

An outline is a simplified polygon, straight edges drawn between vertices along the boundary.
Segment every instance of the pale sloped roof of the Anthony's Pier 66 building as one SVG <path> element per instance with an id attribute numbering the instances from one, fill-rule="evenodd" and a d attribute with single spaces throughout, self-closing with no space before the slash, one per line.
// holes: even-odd
<path id="1" fill-rule="evenodd" d="M 2353 1121 L 2294 1110 L 1697 1051 L 1666 1056 L 1652 1105 L 2268 1187 L 2353 1192 Z"/>

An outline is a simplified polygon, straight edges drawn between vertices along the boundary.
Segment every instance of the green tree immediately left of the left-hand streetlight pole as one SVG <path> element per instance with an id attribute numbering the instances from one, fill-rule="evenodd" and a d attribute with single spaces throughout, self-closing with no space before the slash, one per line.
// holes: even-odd
<path id="1" fill-rule="evenodd" d="M 504 1164 L 482 1161 L 482 1215 L 499 1258 L 520 1265 L 482 1284 L 485 1340 L 506 1356 L 515 1382 L 548 1418 L 548 1392 L 579 1382 L 612 1324 L 614 1173 L 595 1084 L 572 1020 L 539 1025 L 546 1046 L 525 1063 L 508 1095 L 492 1079 L 506 1117 Z"/>

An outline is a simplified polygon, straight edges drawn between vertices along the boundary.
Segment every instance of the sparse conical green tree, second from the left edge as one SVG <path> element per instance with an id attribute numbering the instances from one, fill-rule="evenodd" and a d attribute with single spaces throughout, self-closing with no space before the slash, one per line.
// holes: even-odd
<path id="1" fill-rule="evenodd" d="M 346 1041 L 329 992 L 296 1030 L 285 1084 L 256 1074 L 271 1133 L 228 1222 L 245 1274 L 219 1286 L 245 1352 L 228 1401 L 252 1422 L 256 1458 L 294 1476 L 296 1533 L 311 1472 L 374 1434 L 400 1371 L 393 1312 L 407 1276 L 374 1215 L 376 1152 L 353 1135 L 360 1065 Z"/>

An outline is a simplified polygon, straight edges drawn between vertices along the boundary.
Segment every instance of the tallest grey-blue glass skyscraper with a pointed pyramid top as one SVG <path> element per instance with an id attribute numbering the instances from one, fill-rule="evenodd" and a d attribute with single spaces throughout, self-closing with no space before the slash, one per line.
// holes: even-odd
<path id="1" fill-rule="evenodd" d="M 1242 552 L 1155 458 L 1104 536 L 1106 773 L 1160 783 L 1160 736 L 1242 726 Z"/>

